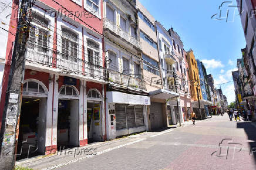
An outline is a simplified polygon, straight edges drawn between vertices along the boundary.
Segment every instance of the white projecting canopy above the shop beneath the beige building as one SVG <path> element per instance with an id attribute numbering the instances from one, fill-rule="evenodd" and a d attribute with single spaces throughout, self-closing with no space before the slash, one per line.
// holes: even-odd
<path id="1" fill-rule="evenodd" d="M 158 89 L 158 90 L 155 90 L 155 91 L 150 91 L 149 96 L 153 97 L 153 98 L 167 100 L 169 98 L 178 97 L 178 96 L 180 96 L 180 94 L 175 93 L 173 91 L 169 91 L 169 90 Z"/>

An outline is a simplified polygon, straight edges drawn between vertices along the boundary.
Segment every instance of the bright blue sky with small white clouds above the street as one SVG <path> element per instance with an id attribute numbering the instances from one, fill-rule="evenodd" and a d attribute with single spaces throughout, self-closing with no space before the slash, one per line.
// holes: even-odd
<path id="1" fill-rule="evenodd" d="M 237 70 L 237 59 L 245 47 L 244 32 L 240 16 L 233 4 L 224 4 L 222 16 L 229 9 L 228 22 L 225 19 L 211 19 L 218 13 L 220 0 L 140 0 L 146 9 L 167 30 L 173 29 L 180 35 L 184 49 L 193 49 L 196 59 L 203 61 L 207 74 L 213 74 L 214 83 L 232 81 L 231 72 Z M 230 6 L 229 6 L 230 5 Z M 234 14 L 234 15 L 233 15 Z M 220 86 L 215 86 L 218 89 Z M 221 85 L 228 103 L 235 101 L 234 83 Z"/>

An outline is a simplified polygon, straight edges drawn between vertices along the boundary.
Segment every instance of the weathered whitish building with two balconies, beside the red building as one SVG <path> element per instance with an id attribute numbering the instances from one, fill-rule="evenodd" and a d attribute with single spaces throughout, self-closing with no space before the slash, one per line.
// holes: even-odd
<path id="1" fill-rule="evenodd" d="M 148 130 L 150 97 L 142 74 L 136 1 L 104 1 L 107 139 Z M 156 46 L 156 45 L 155 45 Z M 152 46 L 153 48 L 153 46 Z"/>

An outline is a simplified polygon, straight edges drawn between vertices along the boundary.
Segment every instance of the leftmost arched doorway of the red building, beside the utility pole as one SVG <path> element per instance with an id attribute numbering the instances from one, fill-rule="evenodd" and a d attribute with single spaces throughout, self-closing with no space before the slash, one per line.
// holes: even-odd
<path id="1" fill-rule="evenodd" d="M 24 81 L 16 159 L 45 153 L 47 97 L 48 89 L 41 81 Z"/>

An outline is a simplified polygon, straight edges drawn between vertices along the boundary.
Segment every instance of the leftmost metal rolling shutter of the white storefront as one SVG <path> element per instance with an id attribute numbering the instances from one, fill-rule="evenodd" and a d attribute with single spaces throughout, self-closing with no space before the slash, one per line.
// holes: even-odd
<path id="1" fill-rule="evenodd" d="M 125 105 L 116 104 L 116 130 L 122 130 L 126 128 L 126 114 Z"/>

